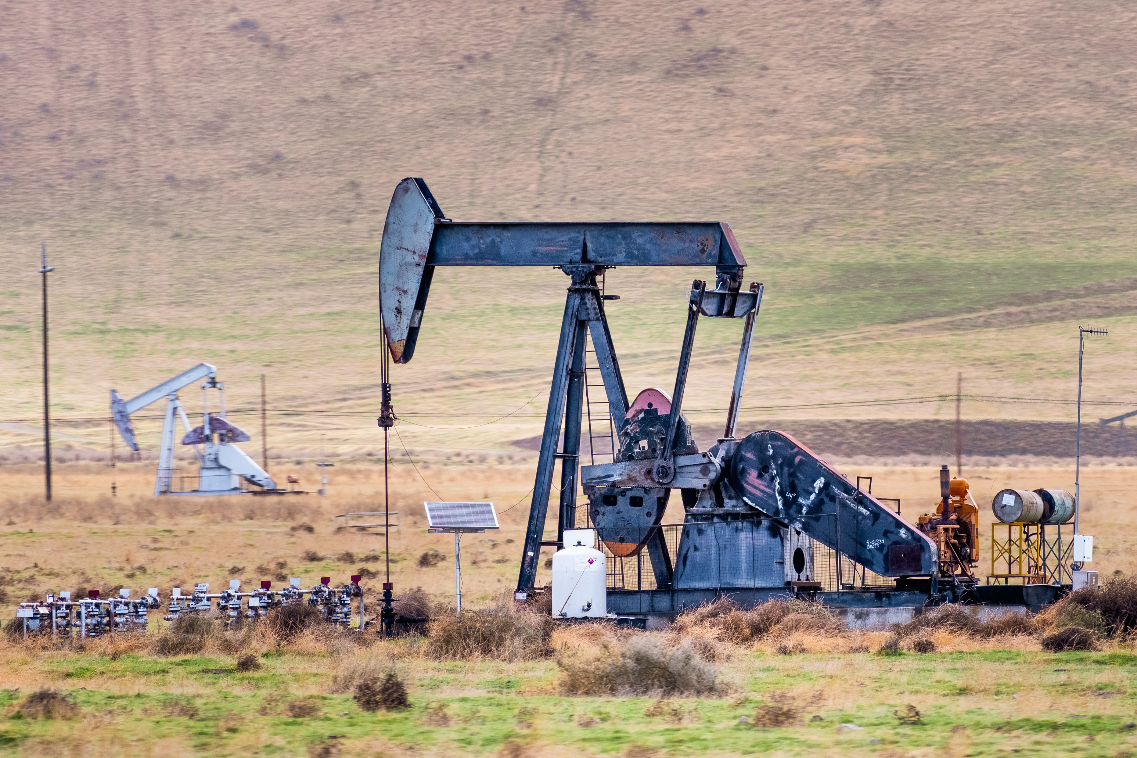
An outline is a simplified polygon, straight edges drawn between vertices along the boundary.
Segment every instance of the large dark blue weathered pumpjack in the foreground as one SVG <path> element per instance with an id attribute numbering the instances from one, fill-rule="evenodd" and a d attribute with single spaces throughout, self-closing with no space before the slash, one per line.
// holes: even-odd
<path id="1" fill-rule="evenodd" d="M 578 484 L 588 499 L 587 522 L 612 555 L 633 557 L 646 550 L 649 557 L 654 588 L 608 590 L 608 610 L 617 614 L 674 614 L 723 594 L 753 605 L 804 591 L 847 608 L 974 598 L 972 583 L 954 576 L 940 582 L 932 539 L 804 444 L 777 431 L 736 436 L 764 292 L 758 283 L 744 289 L 746 265 L 725 223 L 458 223 L 446 217 L 421 178 L 398 184 L 379 265 L 382 326 L 396 364 L 414 356 L 439 266 L 543 266 L 570 277 L 518 599 L 534 589 L 541 548 L 561 549 L 564 531 L 576 525 Z M 605 316 L 612 295 L 598 285 L 598 277 L 617 266 L 714 269 L 713 285 L 700 280 L 691 285 L 670 397 L 648 389 L 629 402 Z M 704 317 L 742 320 L 723 435 L 705 451 L 682 414 L 696 327 Z M 580 465 L 586 334 L 591 336 L 617 438 L 614 460 L 591 466 Z M 557 461 L 557 534 L 545 540 Z M 662 524 L 673 490 L 679 490 L 684 510 L 678 547 L 669 544 Z M 854 589 L 852 584 L 823 591 L 811 576 L 818 547 L 831 551 L 838 566 L 850 566 L 854 575 L 870 572 L 890 584 L 878 582 L 871 592 L 840 591 Z"/>

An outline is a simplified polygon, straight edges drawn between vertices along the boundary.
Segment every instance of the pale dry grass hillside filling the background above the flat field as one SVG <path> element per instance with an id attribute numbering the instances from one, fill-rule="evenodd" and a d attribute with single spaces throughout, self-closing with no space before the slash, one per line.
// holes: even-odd
<path id="1" fill-rule="evenodd" d="M 954 392 L 957 370 L 974 394 L 1072 398 L 1090 320 L 1111 335 L 1087 398 L 1135 398 L 1137 10 L 700 3 L 3 2 L 0 445 L 35 444 L 47 240 L 60 416 L 208 360 L 230 407 L 266 373 L 272 407 L 360 414 L 276 418 L 273 445 L 373 449 L 376 257 L 407 175 L 457 219 L 729 222 L 767 285 L 753 408 Z M 632 391 L 670 386 L 691 277 L 609 274 Z M 556 272 L 440 270 L 395 370 L 407 444 L 539 433 L 563 291 Z M 692 419 L 717 423 L 736 339 L 700 326 Z M 488 426 L 429 416 L 531 398 Z M 953 413 L 753 409 L 742 428 Z"/>

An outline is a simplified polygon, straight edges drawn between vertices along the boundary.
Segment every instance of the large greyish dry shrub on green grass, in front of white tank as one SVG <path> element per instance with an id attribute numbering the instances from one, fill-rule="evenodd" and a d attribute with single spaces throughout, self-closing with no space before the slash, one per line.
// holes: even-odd
<path id="1" fill-rule="evenodd" d="M 565 652 L 557 659 L 561 691 L 570 695 L 708 695 L 719 693 L 719 670 L 687 640 L 636 635 L 604 643 L 592 655 Z"/>

